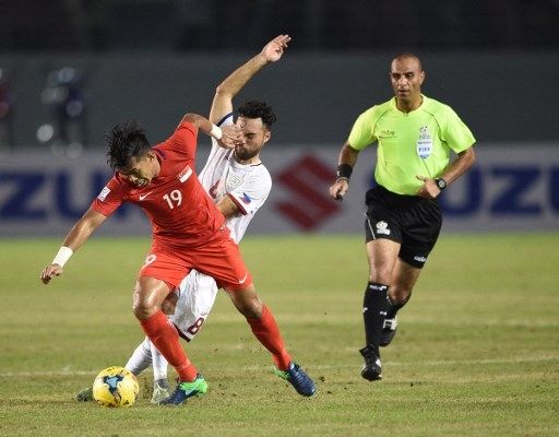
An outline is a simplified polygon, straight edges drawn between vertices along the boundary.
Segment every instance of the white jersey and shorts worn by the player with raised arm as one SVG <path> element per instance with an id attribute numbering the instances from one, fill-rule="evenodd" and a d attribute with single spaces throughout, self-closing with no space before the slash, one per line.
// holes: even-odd
<path id="1" fill-rule="evenodd" d="M 233 125 L 233 114 L 223 118 L 219 126 Z M 239 208 L 240 214 L 225 222 L 231 238 L 239 243 L 247 227 L 262 206 L 272 189 L 272 177 L 263 164 L 242 165 L 235 161 L 234 151 L 224 149 L 212 139 L 212 151 L 199 175 L 204 189 L 215 203 L 225 196 Z M 213 277 L 192 270 L 176 291 L 178 300 L 171 321 L 181 336 L 192 340 L 212 309 L 217 285 Z"/>

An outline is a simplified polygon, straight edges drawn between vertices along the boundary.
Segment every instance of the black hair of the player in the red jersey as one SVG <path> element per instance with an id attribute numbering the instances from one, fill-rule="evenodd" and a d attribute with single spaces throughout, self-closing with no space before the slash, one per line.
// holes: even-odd
<path id="1" fill-rule="evenodd" d="M 115 126 L 105 132 L 107 164 L 114 170 L 124 168 L 132 157 L 144 156 L 151 149 L 145 132 L 135 120 Z"/>

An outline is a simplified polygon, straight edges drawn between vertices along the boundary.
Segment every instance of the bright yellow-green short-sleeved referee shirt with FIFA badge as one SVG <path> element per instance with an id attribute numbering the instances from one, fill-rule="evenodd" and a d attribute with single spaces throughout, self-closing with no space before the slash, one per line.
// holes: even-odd
<path id="1" fill-rule="evenodd" d="M 475 138 L 450 106 L 424 95 L 421 106 L 411 113 L 399 110 L 395 97 L 366 110 L 355 121 L 348 142 L 358 151 L 377 142 L 377 184 L 415 196 L 423 185 L 416 175 L 440 176 L 450 151 L 468 149 Z"/>

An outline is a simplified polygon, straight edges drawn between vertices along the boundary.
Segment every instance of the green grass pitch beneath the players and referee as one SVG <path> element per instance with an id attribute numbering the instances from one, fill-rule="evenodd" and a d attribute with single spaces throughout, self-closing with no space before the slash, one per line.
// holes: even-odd
<path id="1" fill-rule="evenodd" d="M 2 436 L 557 436 L 559 234 L 443 235 L 383 350 L 359 376 L 367 261 L 360 236 L 247 237 L 242 250 L 289 352 L 314 377 L 298 397 L 225 294 L 187 346 L 205 397 L 131 409 L 75 392 L 143 334 L 131 290 L 147 239 L 94 238 L 38 275 L 60 240 L 0 240 Z"/>

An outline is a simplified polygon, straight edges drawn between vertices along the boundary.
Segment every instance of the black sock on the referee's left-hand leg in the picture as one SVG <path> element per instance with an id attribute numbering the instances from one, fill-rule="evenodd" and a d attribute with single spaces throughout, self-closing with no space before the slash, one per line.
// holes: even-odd
<path id="1" fill-rule="evenodd" d="M 362 300 L 362 319 L 367 346 L 379 355 L 380 331 L 386 315 L 389 286 L 369 282 Z"/>

